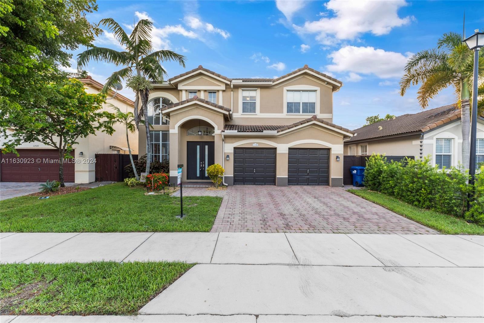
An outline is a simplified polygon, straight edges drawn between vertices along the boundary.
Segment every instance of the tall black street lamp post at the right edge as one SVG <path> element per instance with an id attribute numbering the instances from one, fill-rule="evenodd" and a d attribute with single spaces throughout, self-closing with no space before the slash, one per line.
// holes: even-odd
<path id="1" fill-rule="evenodd" d="M 472 116 L 470 124 L 469 184 L 474 184 L 476 174 L 476 141 L 477 141 L 477 73 L 479 69 L 479 50 L 484 46 L 484 32 L 479 29 L 464 39 L 470 50 L 474 51 L 474 74 L 472 77 Z M 463 138 L 464 139 L 464 138 Z"/>

